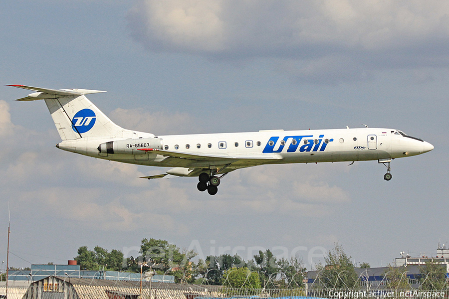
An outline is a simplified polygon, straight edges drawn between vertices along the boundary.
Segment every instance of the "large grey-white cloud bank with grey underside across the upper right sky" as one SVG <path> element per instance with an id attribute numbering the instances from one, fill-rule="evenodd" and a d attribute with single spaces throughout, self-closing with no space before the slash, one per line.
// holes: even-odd
<path id="1" fill-rule="evenodd" d="M 360 81 L 393 66 L 448 66 L 446 0 L 138 0 L 128 21 L 150 50 L 278 58 L 307 82 Z"/>

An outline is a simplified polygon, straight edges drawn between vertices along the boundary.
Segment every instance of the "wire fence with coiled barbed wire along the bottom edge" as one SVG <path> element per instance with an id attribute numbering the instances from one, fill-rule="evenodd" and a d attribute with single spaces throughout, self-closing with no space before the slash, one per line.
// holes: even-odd
<path id="1" fill-rule="evenodd" d="M 199 284 L 187 284 L 191 279 L 191 274 L 184 271 L 180 284 L 172 283 L 155 283 L 151 284 L 144 280 L 142 294 L 139 299 L 225 299 L 225 298 L 276 298 L 276 299 L 304 299 L 304 298 L 329 298 L 329 299 L 448 299 L 449 283 L 446 277 L 441 277 L 441 273 L 430 272 L 422 275 L 421 278 L 411 278 L 407 276 L 407 272 L 398 273 L 388 271 L 379 276 L 378 280 L 371 279 L 366 275 L 361 275 L 357 279 L 344 281 L 347 271 L 328 271 L 335 278 L 329 284 L 328 278 L 323 276 L 323 271 L 314 273 L 313 278 L 307 278 L 305 272 L 297 272 L 293 275 L 286 274 L 282 271 L 272 273 L 265 276 L 265 280 L 261 288 L 247 287 L 230 287 L 229 276 L 233 271 L 227 273 L 223 278 L 223 285 L 212 285 L 207 279 L 208 275 L 218 271 L 217 269 L 209 269 L 202 277 L 197 279 Z M 242 280 L 241 286 L 246 286 L 250 276 L 257 274 L 257 271 L 248 271 L 246 277 Z M 370 279 L 369 279 L 370 278 Z M 438 280 L 437 280 L 438 279 Z M 72 279 L 73 280 L 73 279 Z M 92 286 L 96 285 L 100 288 L 100 280 L 92 279 Z M 110 281 L 110 288 L 124 288 L 124 281 Z M 421 283 L 421 284 L 420 284 Z M 97 285 L 99 284 L 99 285 Z M 425 290 L 421 288 L 423 285 L 430 286 Z M 138 286 L 139 283 L 135 282 Z M 344 285 L 344 288 L 337 288 L 337 285 Z M 20 290 L 15 289 L 14 284 L 11 285 L 10 298 L 19 297 Z M 76 291 L 76 286 L 72 293 Z M 106 288 L 106 287 L 105 287 Z M 127 287 L 128 288 L 128 287 Z M 1 289 L 1 288 L 0 288 Z M 120 289 L 121 290 L 121 289 Z M 4 290 L 0 290 L 0 293 Z M 16 296 L 12 296 L 17 291 Z M 128 291 L 130 293 L 131 291 Z M 135 292 L 135 291 L 134 291 Z M 114 298 L 118 298 L 117 296 Z"/>

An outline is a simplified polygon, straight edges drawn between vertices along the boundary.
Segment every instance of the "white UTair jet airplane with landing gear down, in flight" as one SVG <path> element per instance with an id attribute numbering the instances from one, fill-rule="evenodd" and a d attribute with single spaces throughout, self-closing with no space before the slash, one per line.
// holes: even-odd
<path id="1" fill-rule="evenodd" d="M 367 126 L 155 136 L 119 127 L 85 96 L 105 91 L 8 86 L 33 91 L 16 101 L 45 101 L 62 139 L 56 148 L 111 161 L 172 167 L 142 178 L 196 176 L 198 190 L 210 195 L 217 194 L 227 173 L 264 164 L 378 160 L 387 167 L 384 179 L 389 181 L 393 159 L 434 149 L 400 130 Z"/>

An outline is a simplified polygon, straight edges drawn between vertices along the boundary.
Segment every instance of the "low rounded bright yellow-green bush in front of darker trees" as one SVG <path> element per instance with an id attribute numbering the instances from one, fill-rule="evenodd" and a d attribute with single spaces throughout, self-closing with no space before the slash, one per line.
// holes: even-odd
<path id="1" fill-rule="evenodd" d="M 222 283 L 234 289 L 260 289 L 259 275 L 246 267 L 226 270 L 223 273 Z"/>

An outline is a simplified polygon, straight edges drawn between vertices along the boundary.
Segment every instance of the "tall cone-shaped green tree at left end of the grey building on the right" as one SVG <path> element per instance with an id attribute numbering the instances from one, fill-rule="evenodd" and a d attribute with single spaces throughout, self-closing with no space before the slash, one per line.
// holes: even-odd
<path id="1" fill-rule="evenodd" d="M 324 258 L 325 266 L 317 265 L 318 285 L 333 289 L 352 289 L 357 286 L 358 275 L 343 248 L 335 243 L 335 248 Z"/>

